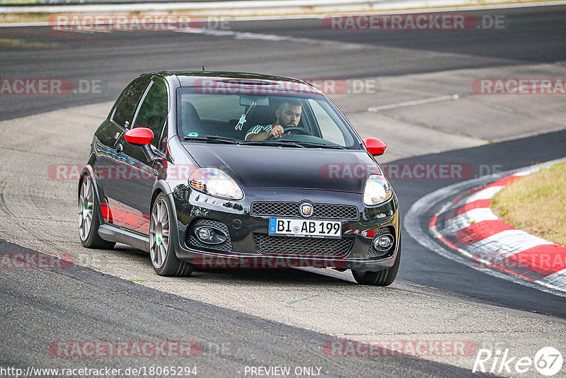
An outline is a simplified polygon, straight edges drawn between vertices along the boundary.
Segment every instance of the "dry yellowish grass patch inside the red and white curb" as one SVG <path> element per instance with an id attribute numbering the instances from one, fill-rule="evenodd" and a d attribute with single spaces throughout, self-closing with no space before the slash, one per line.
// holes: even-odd
<path id="1" fill-rule="evenodd" d="M 490 207 L 516 229 L 566 246 L 566 164 L 516 179 L 492 198 Z"/>

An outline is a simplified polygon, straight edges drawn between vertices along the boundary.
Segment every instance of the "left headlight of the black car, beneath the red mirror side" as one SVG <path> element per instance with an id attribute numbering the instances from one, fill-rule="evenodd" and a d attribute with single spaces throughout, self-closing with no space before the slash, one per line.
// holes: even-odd
<path id="1" fill-rule="evenodd" d="M 243 191 L 240 186 L 226 173 L 216 168 L 199 168 L 189 177 L 191 188 L 214 197 L 228 200 L 241 200 Z"/>

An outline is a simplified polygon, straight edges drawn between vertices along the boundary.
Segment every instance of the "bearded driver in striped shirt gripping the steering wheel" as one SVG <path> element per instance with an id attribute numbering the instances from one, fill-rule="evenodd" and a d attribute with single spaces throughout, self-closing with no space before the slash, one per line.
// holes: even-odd
<path id="1" fill-rule="evenodd" d="M 255 125 L 250 127 L 246 140 L 267 140 L 270 137 L 278 139 L 283 136 L 285 127 L 296 127 L 301 120 L 301 101 L 286 100 L 279 104 L 275 110 L 277 120 L 273 125 Z M 291 134 L 288 132 L 287 134 Z"/>

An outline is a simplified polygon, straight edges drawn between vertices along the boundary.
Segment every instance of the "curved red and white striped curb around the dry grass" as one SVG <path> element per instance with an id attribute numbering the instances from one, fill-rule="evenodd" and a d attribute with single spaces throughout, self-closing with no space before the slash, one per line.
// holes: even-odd
<path id="1" fill-rule="evenodd" d="M 480 190 L 470 190 L 468 194 L 457 197 L 441 207 L 429 222 L 429 231 L 437 239 L 437 244 L 439 242 L 444 247 L 445 251 L 441 254 L 446 257 L 456 255 L 458 258 L 452 258 L 453 260 L 459 260 L 488 274 L 554 294 L 566 294 L 566 248 L 515 229 L 490 210 L 491 198 L 506 185 L 521 176 L 562 161 L 564 159 L 514 172 Z M 451 186 L 458 187 L 461 184 Z M 446 189 L 449 188 L 441 191 L 449 194 L 451 190 Z M 461 189 L 453 189 L 452 195 L 461 193 Z M 438 202 L 440 201 L 434 203 Z M 434 203 L 429 202 L 429 208 Z M 417 205 L 417 210 L 422 205 L 422 203 Z M 407 214 L 405 219 L 409 217 L 410 214 Z M 405 227 L 411 234 L 408 223 L 410 222 L 405 222 Z M 416 240 L 423 244 L 419 239 Z M 425 244 L 430 248 L 430 243 Z M 432 249 L 439 252 L 438 248 Z"/>

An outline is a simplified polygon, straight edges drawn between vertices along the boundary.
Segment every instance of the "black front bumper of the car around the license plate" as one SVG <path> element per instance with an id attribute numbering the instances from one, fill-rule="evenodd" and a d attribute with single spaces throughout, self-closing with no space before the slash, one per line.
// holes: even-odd
<path id="1" fill-rule="evenodd" d="M 400 239 L 398 201 L 395 195 L 381 205 L 366 207 L 362 195 L 325 190 L 305 189 L 246 189 L 243 200 L 232 201 L 212 197 L 191 188 L 176 190 L 172 195 L 173 215 L 177 227 L 172 229 L 175 254 L 182 260 L 194 263 L 197 268 L 294 268 L 314 266 L 353 270 L 382 270 L 390 268 L 398 255 Z M 284 200 L 282 200 L 284 199 Z M 253 202 L 296 202 L 305 200 L 313 204 L 351 205 L 357 208 L 357 219 L 333 219 L 342 223 L 341 239 L 311 239 L 292 236 L 268 236 L 270 215 L 252 214 Z M 275 216 L 275 215 L 273 215 Z M 297 216 L 296 218 L 301 218 Z M 316 218 L 316 213 L 313 214 Z M 323 219 L 323 218 L 320 218 Z M 173 220 L 173 219 L 172 219 Z M 195 224 L 210 222 L 222 224 L 229 234 L 229 244 L 222 246 L 196 245 L 192 229 Z M 200 222 L 200 223 L 197 223 Z M 374 237 L 387 228 L 393 235 L 394 245 L 387 253 L 376 256 L 372 251 Z M 381 231 L 380 231 L 381 230 Z M 292 238 L 296 248 L 285 249 L 284 239 Z M 258 244 L 260 240 L 279 243 L 277 252 Z M 333 242 L 329 241 L 333 240 Z M 346 253 L 333 252 L 338 243 L 347 244 Z M 283 246 L 283 247 L 282 247 Z M 209 248 L 211 247 L 211 248 Z M 342 248 L 341 251 L 345 251 Z"/>

